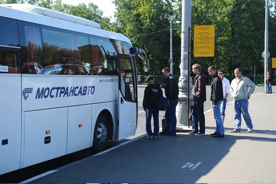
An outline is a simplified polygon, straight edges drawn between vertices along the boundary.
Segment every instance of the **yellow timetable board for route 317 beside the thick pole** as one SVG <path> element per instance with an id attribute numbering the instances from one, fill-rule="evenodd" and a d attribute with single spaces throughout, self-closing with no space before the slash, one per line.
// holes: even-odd
<path id="1" fill-rule="evenodd" d="M 193 32 L 193 56 L 214 57 L 215 56 L 215 26 L 194 26 Z"/>

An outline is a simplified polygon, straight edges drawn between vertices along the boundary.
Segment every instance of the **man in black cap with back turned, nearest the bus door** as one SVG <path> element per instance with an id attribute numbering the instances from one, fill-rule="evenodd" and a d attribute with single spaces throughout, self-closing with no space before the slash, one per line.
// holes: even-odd
<path id="1" fill-rule="evenodd" d="M 159 84 L 155 84 L 155 79 L 152 76 L 147 78 L 149 83 L 145 88 L 143 108 L 146 112 L 146 131 L 145 138 L 157 138 L 159 131 L 159 109 L 157 108 L 160 96 L 163 96 L 163 91 Z M 152 133 L 151 119 L 153 116 L 154 130 Z"/>

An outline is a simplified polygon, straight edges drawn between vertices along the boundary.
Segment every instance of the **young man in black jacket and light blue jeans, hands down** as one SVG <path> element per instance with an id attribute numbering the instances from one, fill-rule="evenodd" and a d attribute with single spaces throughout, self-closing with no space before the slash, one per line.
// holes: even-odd
<path id="1" fill-rule="evenodd" d="M 216 72 L 216 68 L 213 65 L 208 68 L 208 72 L 211 76 L 213 76 L 210 87 L 214 118 L 216 120 L 216 131 L 211 135 L 213 137 L 224 137 L 224 127 L 220 109 L 221 103 L 223 101 L 222 81 Z"/>

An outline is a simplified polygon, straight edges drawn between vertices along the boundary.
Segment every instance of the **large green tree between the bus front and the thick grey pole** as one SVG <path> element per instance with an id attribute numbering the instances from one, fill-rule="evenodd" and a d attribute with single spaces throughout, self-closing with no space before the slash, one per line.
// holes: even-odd
<path id="1" fill-rule="evenodd" d="M 161 74 L 162 68 L 170 66 L 170 23 L 159 17 L 162 13 L 175 13 L 172 3 L 162 0 L 114 0 L 114 3 L 120 33 L 130 38 L 134 47 L 141 47 L 146 51 L 150 60 L 148 74 Z M 173 38 L 180 40 L 175 34 Z M 179 49 L 180 45 L 175 45 L 175 48 Z M 177 61 L 176 58 L 178 63 L 175 65 L 179 70 L 180 55 L 174 54 L 174 61 Z M 136 61 L 137 73 L 141 73 L 140 60 Z"/>

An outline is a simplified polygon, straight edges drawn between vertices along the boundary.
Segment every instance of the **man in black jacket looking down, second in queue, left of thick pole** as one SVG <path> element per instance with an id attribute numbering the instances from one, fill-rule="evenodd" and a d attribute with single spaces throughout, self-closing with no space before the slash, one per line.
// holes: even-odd
<path id="1" fill-rule="evenodd" d="M 168 100 L 168 107 L 166 108 L 165 118 L 166 118 L 166 127 L 164 131 L 159 132 L 160 135 L 166 136 L 175 136 L 176 135 L 176 106 L 178 104 L 178 94 L 179 87 L 177 83 L 177 79 L 170 73 L 169 68 L 163 68 L 162 70 L 163 76 L 166 78 L 166 83 L 162 84 L 162 88 L 165 89 L 165 95 Z M 170 130 L 170 124 L 172 124 L 172 128 Z"/>

